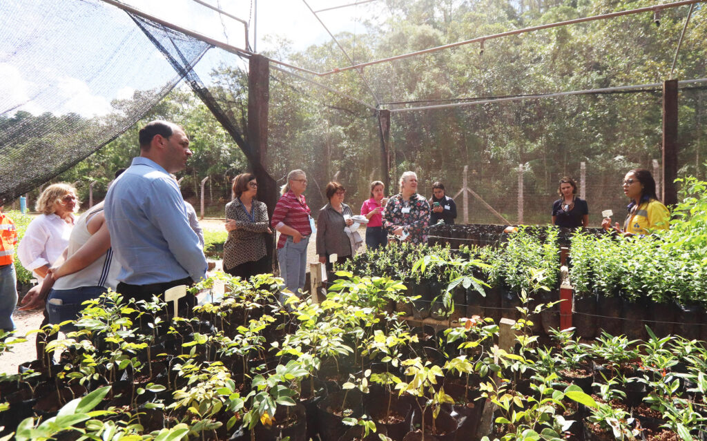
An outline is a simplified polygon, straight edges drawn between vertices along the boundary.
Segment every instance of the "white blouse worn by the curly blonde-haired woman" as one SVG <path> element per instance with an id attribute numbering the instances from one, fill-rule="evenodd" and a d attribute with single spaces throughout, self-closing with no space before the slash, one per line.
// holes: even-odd
<path id="1" fill-rule="evenodd" d="M 74 218 L 74 215 L 71 215 Z M 27 226 L 25 235 L 17 247 L 17 256 L 25 269 L 33 271 L 43 265 L 52 266 L 69 245 L 69 235 L 74 223 L 56 214 L 40 214 Z"/>

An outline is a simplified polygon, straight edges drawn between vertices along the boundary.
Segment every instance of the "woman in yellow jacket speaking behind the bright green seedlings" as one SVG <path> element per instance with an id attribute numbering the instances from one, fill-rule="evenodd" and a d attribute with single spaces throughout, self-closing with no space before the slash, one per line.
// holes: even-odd
<path id="1" fill-rule="evenodd" d="M 631 203 L 626 209 L 629 211 L 624 228 L 616 225 L 612 227 L 611 218 L 602 220 L 604 230 L 613 229 L 624 235 L 645 235 L 651 230 L 667 230 L 670 228 L 670 211 L 658 200 L 655 194 L 655 180 L 648 170 L 634 168 L 624 177 L 624 194 Z"/>

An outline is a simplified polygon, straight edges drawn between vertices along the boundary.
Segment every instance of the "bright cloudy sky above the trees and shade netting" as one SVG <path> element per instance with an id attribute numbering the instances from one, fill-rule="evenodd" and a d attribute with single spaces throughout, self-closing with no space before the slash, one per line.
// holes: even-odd
<path id="1" fill-rule="evenodd" d="M 245 48 L 245 28 L 194 0 L 122 0 L 145 13 L 182 28 Z M 250 23 L 250 46 L 256 52 L 276 52 L 277 38 L 291 41 L 295 51 L 330 39 L 307 4 L 322 8 L 356 0 L 204 0 Z M 255 6 L 257 2 L 257 35 Z M 306 3 L 305 3 L 306 2 Z M 336 35 L 361 33 L 360 19 L 380 17 L 383 0 L 322 11 L 320 19 Z M 98 0 L 45 3 L 42 0 L 2 0 L 0 17 L 0 115 L 18 110 L 33 114 L 74 112 L 83 117 L 113 111 L 112 100 L 130 98 L 134 90 L 163 86 L 175 77 L 156 49 L 123 11 Z M 110 19 L 106 19 L 110 17 Z M 270 38 L 267 38 L 269 36 Z M 124 52 L 110 59 L 105 54 L 134 50 L 126 63 Z M 199 72 L 222 59 L 207 52 Z M 91 54 L 100 54 L 92 57 Z M 223 54 L 222 54 L 223 55 Z M 238 57 L 233 57 L 238 62 Z M 287 60 L 283 60 L 287 61 Z M 231 62 L 230 59 L 228 62 Z M 202 78 L 208 82 L 208 78 Z"/>

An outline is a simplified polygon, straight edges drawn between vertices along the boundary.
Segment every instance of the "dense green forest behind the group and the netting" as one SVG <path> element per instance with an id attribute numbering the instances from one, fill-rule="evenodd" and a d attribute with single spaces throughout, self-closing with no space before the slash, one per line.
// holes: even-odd
<path id="1" fill-rule="evenodd" d="M 337 35 L 354 62 L 532 25 L 651 6 L 655 1 L 385 0 L 385 4 L 390 18 L 382 24 L 362 22 L 358 32 Z M 661 83 L 670 76 L 688 11 L 689 6 L 662 11 L 660 26 L 656 26 L 652 13 L 642 13 L 503 37 L 485 42 L 483 54 L 479 45 L 466 45 L 370 66 L 362 73 L 337 73 L 325 83 L 391 110 Z M 674 78 L 707 76 L 706 35 L 707 7 L 697 4 L 682 41 Z M 287 38 L 271 38 L 279 38 L 279 50 L 265 55 L 275 59 L 287 59 L 315 71 L 350 64 L 334 42 L 294 51 Z M 220 64 L 203 79 L 240 123 L 241 133 L 247 134 L 247 72 L 239 66 L 243 63 Z M 692 86 L 679 94 L 679 175 L 705 176 L 706 92 L 704 87 Z M 151 91 L 137 91 L 134 100 L 144 93 Z M 115 101 L 112 105 L 129 109 L 131 102 Z M 580 163 L 584 162 L 590 222 L 596 225 L 601 210 L 612 208 L 620 213 L 626 205 L 620 187 L 624 173 L 632 167 L 651 169 L 654 159 L 660 161 L 661 105 L 658 87 L 631 93 L 393 112 L 390 141 L 395 150 L 396 174 L 415 170 L 423 195 L 429 197 L 432 183 L 440 180 L 453 196 L 462 187 L 462 170 L 468 165 L 469 187 L 515 223 L 518 168 L 522 165 L 523 220 L 547 223 L 559 178 L 578 178 Z M 47 118 L 70 127 L 82 117 L 16 112 L 11 117 L 0 117 L 0 129 L 26 119 Z M 134 127 L 52 181 L 76 182 L 85 205 L 89 183 L 98 181 L 94 203 L 100 201 L 115 170 L 127 167 L 139 154 L 139 127 L 156 118 L 182 124 L 192 140 L 194 156 L 187 169 L 178 174 L 184 177 L 185 199 L 199 211 L 199 183 L 208 176 L 206 216 L 223 216 L 223 206 L 230 201 L 230 179 L 247 170 L 247 160 L 184 85 L 175 88 Z M 368 198 L 370 181 L 387 180 L 381 175 L 378 117 L 358 102 L 271 69 L 267 168 L 280 183 L 284 183 L 288 170 L 303 168 L 310 180 L 305 195 L 315 211 L 326 203 L 327 182 L 336 178 L 348 189 L 346 202 L 356 211 Z M 396 191 L 388 189 L 387 193 Z M 31 201 L 37 192 L 29 194 Z M 472 223 L 500 223 L 479 201 L 470 198 L 470 202 Z"/>

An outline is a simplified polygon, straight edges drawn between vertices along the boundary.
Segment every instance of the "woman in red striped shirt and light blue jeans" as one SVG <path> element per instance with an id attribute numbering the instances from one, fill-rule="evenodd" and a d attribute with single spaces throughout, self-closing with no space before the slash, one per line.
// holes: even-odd
<path id="1" fill-rule="evenodd" d="M 305 172 L 289 172 L 287 184 L 282 187 L 282 196 L 277 201 L 271 220 L 272 227 L 280 232 L 277 241 L 280 276 L 285 279 L 285 286 L 295 294 L 305 287 L 307 245 L 314 225 L 303 195 L 306 189 Z M 286 299 L 281 297 L 280 300 L 284 302 Z"/>

